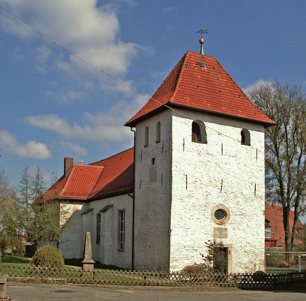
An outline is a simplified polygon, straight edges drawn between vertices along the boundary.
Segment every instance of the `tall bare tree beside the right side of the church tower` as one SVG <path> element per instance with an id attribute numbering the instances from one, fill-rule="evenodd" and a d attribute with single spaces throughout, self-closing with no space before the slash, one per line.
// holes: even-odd
<path id="1" fill-rule="evenodd" d="M 295 245 L 298 218 L 305 210 L 306 100 L 300 86 L 274 82 L 255 87 L 250 93 L 255 105 L 275 125 L 266 129 L 266 199 L 283 209 L 285 249 Z M 294 211 L 292 230 L 290 210 Z"/>

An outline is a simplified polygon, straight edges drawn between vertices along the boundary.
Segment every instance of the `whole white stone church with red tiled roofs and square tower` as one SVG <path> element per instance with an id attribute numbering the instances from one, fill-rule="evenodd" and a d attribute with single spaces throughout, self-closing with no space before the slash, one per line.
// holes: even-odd
<path id="1" fill-rule="evenodd" d="M 265 116 L 214 57 L 187 51 L 125 124 L 134 147 L 91 164 L 64 159 L 64 258 L 178 271 L 224 244 L 227 272 L 264 269 Z M 67 224 L 67 226 L 66 226 Z"/>

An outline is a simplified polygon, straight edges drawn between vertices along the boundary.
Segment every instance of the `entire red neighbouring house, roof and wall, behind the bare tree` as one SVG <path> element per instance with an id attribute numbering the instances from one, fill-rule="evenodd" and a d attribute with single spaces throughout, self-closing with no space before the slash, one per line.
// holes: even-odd
<path id="1" fill-rule="evenodd" d="M 282 207 L 265 203 L 265 247 L 284 247 L 285 231 L 283 225 Z M 290 211 L 289 226 L 292 231 L 294 212 Z M 296 227 L 296 244 L 301 244 L 303 238 L 303 225 L 298 220 Z"/>

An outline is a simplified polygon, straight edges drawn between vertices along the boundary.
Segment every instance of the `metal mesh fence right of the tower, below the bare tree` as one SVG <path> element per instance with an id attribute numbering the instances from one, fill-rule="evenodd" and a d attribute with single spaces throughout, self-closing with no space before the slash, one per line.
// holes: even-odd
<path id="1" fill-rule="evenodd" d="M 304 272 L 306 271 L 306 252 L 265 252 L 266 272 Z"/>

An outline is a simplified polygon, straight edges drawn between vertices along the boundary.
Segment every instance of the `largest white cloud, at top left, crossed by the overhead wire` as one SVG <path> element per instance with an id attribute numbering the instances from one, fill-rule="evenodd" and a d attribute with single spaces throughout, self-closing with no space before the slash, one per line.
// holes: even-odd
<path id="1" fill-rule="evenodd" d="M 127 73 L 140 47 L 119 39 L 117 9 L 110 5 L 98 7 L 96 0 L 2 0 L 2 5 L 50 39 L 115 75 Z M 126 5 L 131 3 L 127 1 Z M 6 16 L 0 16 L 0 21 L 8 32 L 23 38 L 35 37 L 33 32 Z M 45 54 L 41 51 L 38 59 L 44 62 Z M 93 68 L 72 56 L 60 58 L 57 66 L 69 74 L 80 71 L 95 74 Z"/>

